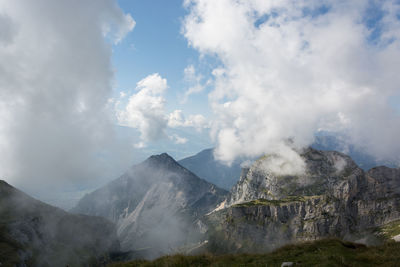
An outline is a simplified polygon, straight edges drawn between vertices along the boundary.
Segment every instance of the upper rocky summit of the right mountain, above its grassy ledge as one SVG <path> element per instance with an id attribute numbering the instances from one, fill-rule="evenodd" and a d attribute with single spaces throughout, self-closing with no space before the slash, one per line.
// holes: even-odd
<path id="1" fill-rule="evenodd" d="M 292 161 L 266 155 L 243 170 L 239 182 L 231 190 L 228 205 L 260 198 L 339 195 L 341 192 L 337 190 L 343 181 L 357 180 L 362 174 L 350 157 L 336 151 L 308 148 Z"/>

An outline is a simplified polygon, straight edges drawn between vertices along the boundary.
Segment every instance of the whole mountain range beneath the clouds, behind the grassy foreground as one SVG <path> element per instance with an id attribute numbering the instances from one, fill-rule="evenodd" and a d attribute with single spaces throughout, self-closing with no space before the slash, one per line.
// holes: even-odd
<path id="1" fill-rule="evenodd" d="M 301 168 L 265 155 L 227 191 L 194 173 L 235 180 L 233 167 L 217 171 L 212 153 L 179 162 L 151 156 L 85 195 L 72 214 L 1 181 L 0 263 L 101 266 L 116 258 L 265 252 L 327 237 L 400 240 L 393 230 L 400 228 L 398 168 L 365 171 L 343 153 L 307 148 L 299 151 Z"/>

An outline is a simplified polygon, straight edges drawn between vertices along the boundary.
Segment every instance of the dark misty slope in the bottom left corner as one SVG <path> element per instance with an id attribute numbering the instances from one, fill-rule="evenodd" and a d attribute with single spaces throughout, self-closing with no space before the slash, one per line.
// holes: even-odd
<path id="1" fill-rule="evenodd" d="M 3 266 L 99 266 L 119 246 L 108 220 L 69 214 L 0 180 Z"/>

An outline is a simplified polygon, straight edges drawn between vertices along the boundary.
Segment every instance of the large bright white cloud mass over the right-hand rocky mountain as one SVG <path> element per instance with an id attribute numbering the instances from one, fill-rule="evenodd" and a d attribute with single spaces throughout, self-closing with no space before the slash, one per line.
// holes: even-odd
<path id="1" fill-rule="evenodd" d="M 209 96 L 218 158 L 290 160 L 323 129 L 400 161 L 398 1 L 184 3 L 189 44 L 221 62 Z"/>

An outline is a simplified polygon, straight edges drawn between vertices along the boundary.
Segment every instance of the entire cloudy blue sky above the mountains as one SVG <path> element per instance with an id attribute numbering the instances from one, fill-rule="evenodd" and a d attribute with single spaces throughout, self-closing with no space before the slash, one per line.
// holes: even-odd
<path id="1" fill-rule="evenodd" d="M 209 147 L 290 173 L 321 131 L 400 162 L 399 66 L 397 0 L 0 0 L 0 177 L 59 196 Z"/>

